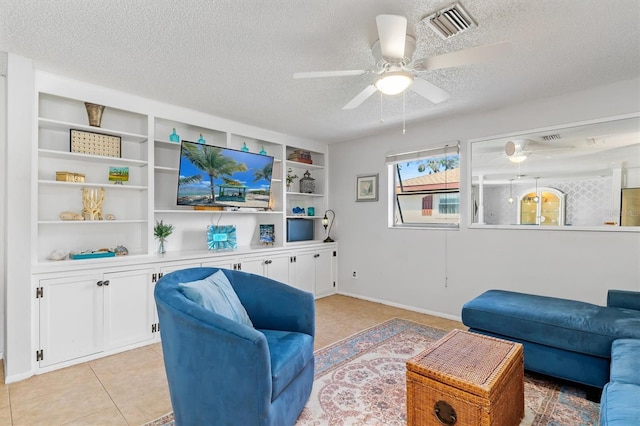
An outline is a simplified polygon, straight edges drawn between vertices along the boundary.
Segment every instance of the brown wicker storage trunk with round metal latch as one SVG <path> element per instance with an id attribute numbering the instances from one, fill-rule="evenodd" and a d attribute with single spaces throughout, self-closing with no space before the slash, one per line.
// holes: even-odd
<path id="1" fill-rule="evenodd" d="M 517 426 L 522 345 L 454 330 L 407 361 L 407 424 Z"/>

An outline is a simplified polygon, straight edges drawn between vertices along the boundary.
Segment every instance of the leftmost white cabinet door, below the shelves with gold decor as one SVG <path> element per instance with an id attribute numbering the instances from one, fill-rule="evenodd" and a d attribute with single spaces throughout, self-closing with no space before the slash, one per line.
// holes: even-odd
<path id="1" fill-rule="evenodd" d="M 99 274 L 40 280 L 40 367 L 103 350 Z"/>

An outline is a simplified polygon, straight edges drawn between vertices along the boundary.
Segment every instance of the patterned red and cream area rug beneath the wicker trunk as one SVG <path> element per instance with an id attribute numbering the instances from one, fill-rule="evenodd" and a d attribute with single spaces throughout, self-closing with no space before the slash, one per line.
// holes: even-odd
<path id="1" fill-rule="evenodd" d="M 405 361 L 446 333 L 392 319 L 316 351 L 311 397 L 296 426 L 406 425 Z M 599 405 L 585 392 L 525 374 L 522 426 L 597 425 Z M 173 426 L 168 414 L 146 426 Z"/>

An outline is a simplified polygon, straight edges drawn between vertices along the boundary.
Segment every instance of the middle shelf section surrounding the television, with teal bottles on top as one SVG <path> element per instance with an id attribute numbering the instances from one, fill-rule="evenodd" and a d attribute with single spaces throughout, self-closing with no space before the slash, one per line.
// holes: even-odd
<path id="1" fill-rule="evenodd" d="M 175 133 L 174 133 L 175 129 Z M 154 119 L 153 216 L 175 225 L 175 234 L 169 240 L 180 241 L 178 247 L 168 242 L 168 251 L 198 250 L 206 248 L 206 230 L 211 225 L 234 225 L 239 246 L 259 247 L 260 225 L 274 225 L 276 246 L 284 241 L 282 144 L 244 135 L 214 130 L 206 125 L 194 125 L 165 118 Z M 227 206 L 223 210 L 178 205 L 182 141 L 198 142 L 235 151 L 273 157 L 270 198 L 268 206 Z M 204 143 L 202 143 L 204 141 Z M 261 175 L 264 171 L 260 170 Z M 190 176 L 190 175 L 189 175 Z M 257 176 L 257 175 L 256 175 Z M 253 178 L 248 178 L 253 179 Z M 208 181 L 208 178 L 207 178 Z M 253 183 L 253 182 L 252 182 Z M 219 188 L 216 188 L 216 194 Z"/>

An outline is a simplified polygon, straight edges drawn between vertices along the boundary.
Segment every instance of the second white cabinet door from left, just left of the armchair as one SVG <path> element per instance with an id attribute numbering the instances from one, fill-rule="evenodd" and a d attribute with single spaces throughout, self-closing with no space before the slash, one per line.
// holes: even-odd
<path id="1" fill-rule="evenodd" d="M 154 338 L 154 270 L 104 274 L 104 332 L 106 349 L 116 349 Z"/>

